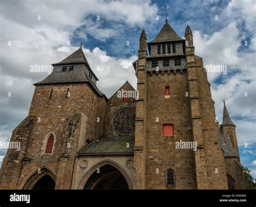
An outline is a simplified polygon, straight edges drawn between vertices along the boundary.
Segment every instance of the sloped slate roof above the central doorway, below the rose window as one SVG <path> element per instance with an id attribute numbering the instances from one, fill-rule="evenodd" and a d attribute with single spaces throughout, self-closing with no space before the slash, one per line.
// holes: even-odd
<path id="1" fill-rule="evenodd" d="M 105 136 L 82 147 L 78 155 L 133 155 L 133 151 L 134 136 Z"/>

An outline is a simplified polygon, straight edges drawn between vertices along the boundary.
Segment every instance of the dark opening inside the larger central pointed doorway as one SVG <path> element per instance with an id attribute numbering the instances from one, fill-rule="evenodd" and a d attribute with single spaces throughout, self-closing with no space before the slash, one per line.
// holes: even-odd
<path id="1" fill-rule="evenodd" d="M 84 189 L 129 190 L 129 185 L 122 172 L 110 164 L 105 164 L 93 172 Z"/>

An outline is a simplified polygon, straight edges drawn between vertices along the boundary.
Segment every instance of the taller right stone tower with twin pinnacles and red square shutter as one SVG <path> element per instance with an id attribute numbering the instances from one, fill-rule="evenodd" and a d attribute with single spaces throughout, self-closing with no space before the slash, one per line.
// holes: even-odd
<path id="1" fill-rule="evenodd" d="M 133 63 L 139 91 L 134 188 L 227 189 L 210 83 L 190 27 L 183 39 L 166 19 L 157 37 L 146 40 L 143 30 Z"/>

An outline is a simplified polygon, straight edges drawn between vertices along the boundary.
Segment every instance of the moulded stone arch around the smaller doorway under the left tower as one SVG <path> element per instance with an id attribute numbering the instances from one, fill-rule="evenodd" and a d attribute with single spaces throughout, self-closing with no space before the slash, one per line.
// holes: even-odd
<path id="1" fill-rule="evenodd" d="M 40 171 L 38 171 L 40 169 Z M 49 167 L 43 166 L 31 172 L 31 174 L 25 179 L 21 185 L 23 190 L 31 190 L 36 185 L 36 183 L 41 180 L 45 175 L 48 175 L 56 183 L 56 173 Z"/>

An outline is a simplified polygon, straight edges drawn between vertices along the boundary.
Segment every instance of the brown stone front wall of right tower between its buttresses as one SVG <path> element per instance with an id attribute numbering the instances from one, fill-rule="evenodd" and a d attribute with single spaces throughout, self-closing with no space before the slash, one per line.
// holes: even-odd
<path id="1" fill-rule="evenodd" d="M 165 98 L 165 86 L 170 98 Z M 146 189 L 195 189 L 193 149 L 176 149 L 176 142 L 192 141 L 187 74 L 147 74 Z M 157 122 L 159 120 L 159 122 Z M 163 124 L 174 126 L 174 136 L 164 137 Z M 167 186 L 166 171 L 174 171 L 175 184 Z M 158 173 L 157 173 L 158 170 Z"/>

